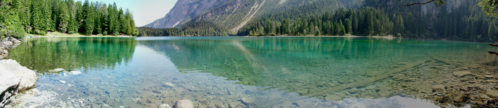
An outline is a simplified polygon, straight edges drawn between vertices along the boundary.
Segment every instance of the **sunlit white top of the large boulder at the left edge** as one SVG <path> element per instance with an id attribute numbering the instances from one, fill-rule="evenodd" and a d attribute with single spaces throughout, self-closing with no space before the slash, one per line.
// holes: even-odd
<path id="1" fill-rule="evenodd" d="M 15 60 L 0 60 L 0 70 L 0 73 L 12 73 L 16 77 L 19 77 L 19 91 L 35 87 L 36 73 L 26 67 L 21 66 Z M 0 76 L 0 79 L 7 78 L 6 76 Z"/>

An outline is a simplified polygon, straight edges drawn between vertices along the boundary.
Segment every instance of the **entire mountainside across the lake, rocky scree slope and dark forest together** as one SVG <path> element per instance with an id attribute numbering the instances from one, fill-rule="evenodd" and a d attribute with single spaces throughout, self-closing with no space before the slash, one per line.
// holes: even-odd
<path id="1" fill-rule="evenodd" d="M 208 21 L 224 27 L 231 32 L 230 35 L 237 36 L 391 35 L 479 42 L 498 40 L 497 19 L 486 15 L 483 8 L 478 5 L 479 0 L 444 0 L 444 4 L 433 2 L 402 6 L 417 1 L 425 2 L 425 0 L 227 1 L 186 22 L 185 25 Z M 247 8 L 249 4 L 253 8 Z M 250 13 L 256 10 L 259 12 L 252 13 L 254 16 L 248 18 L 252 15 Z M 181 30 L 181 26 L 178 30 Z M 214 32 L 216 31 L 209 32 L 209 35 L 224 34 Z M 149 32 L 149 34 L 154 33 Z M 198 32 L 198 35 L 206 34 Z"/>

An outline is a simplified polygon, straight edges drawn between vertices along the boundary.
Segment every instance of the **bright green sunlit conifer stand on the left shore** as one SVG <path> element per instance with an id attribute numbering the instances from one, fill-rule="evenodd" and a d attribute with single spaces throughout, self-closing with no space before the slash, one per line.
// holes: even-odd
<path id="1" fill-rule="evenodd" d="M 116 3 L 85 0 L 2 0 L 1 36 L 47 31 L 84 35 L 138 35 L 133 15 Z"/>

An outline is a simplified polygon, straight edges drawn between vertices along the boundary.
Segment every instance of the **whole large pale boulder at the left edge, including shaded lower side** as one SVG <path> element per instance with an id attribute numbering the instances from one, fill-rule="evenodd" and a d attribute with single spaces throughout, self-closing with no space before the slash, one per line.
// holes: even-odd
<path id="1" fill-rule="evenodd" d="M 34 71 L 15 60 L 0 60 L 0 108 L 10 104 L 18 91 L 35 87 Z"/>

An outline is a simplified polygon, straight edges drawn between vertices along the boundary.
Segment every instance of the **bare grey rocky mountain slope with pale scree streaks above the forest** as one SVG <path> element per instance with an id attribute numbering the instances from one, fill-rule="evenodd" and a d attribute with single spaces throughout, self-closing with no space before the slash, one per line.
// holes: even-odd
<path id="1" fill-rule="evenodd" d="M 338 0 L 178 0 L 165 17 L 144 27 L 171 28 L 189 22 L 211 21 L 232 32 L 237 32 L 249 21 L 261 15 L 317 2 L 334 4 L 327 5 L 328 9 L 343 7 Z"/>

